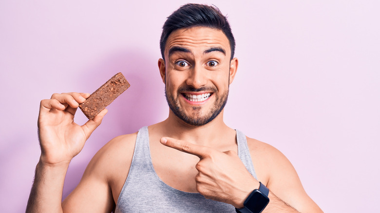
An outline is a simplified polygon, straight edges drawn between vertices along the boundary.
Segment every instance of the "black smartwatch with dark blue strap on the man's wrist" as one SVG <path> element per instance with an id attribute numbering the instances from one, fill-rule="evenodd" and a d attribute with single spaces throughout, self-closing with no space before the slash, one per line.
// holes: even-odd
<path id="1" fill-rule="evenodd" d="M 269 203 L 269 189 L 260 182 L 259 189 L 252 191 L 244 201 L 244 208 L 236 209 L 237 213 L 261 213 Z"/>

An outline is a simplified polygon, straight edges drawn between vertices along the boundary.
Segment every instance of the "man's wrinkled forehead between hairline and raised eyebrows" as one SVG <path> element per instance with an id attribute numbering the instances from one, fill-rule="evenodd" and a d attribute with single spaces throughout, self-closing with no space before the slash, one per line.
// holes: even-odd
<path id="1" fill-rule="evenodd" d="M 228 57 L 231 54 L 228 38 L 223 31 L 209 27 L 191 27 L 173 31 L 166 41 L 166 57 L 168 51 L 175 46 L 200 52 L 210 47 L 219 47 L 226 51 Z"/>

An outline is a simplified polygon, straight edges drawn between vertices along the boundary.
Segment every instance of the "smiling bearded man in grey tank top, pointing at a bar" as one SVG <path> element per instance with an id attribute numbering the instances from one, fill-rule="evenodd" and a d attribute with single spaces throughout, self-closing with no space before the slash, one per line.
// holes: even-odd
<path id="1" fill-rule="evenodd" d="M 168 118 L 108 142 L 62 203 L 69 163 L 107 110 L 79 126 L 76 108 L 89 94 L 41 101 L 27 212 L 322 212 L 282 153 L 223 122 L 238 59 L 220 11 L 182 6 L 165 22 L 160 48 Z"/>

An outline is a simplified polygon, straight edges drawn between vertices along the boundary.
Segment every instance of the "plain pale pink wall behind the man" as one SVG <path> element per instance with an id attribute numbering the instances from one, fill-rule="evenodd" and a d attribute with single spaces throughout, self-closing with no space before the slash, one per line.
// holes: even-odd
<path id="1" fill-rule="evenodd" d="M 64 196 L 106 142 L 167 117 L 158 42 L 184 3 L 0 1 L 0 212 L 25 211 L 40 100 L 91 93 L 118 71 L 132 85 L 72 160 Z M 379 212 L 379 1 L 202 3 L 228 15 L 237 42 L 226 123 L 282 151 L 325 212 Z"/>

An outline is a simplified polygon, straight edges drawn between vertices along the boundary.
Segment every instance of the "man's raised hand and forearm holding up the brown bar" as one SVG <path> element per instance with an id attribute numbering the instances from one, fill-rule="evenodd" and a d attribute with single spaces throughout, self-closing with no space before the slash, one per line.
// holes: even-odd
<path id="1" fill-rule="evenodd" d="M 62 190 L 69 163 L 82 150 L 107 113 L 107 110 L 103 110 L 82 126 L 74 123 L 77 107 L 89 95 L 74 92 L 53 94 L 51 99 L 41 101 L 38 115 L 41 156 L 26 207 L 27 213 L 62 212 Z"/>

